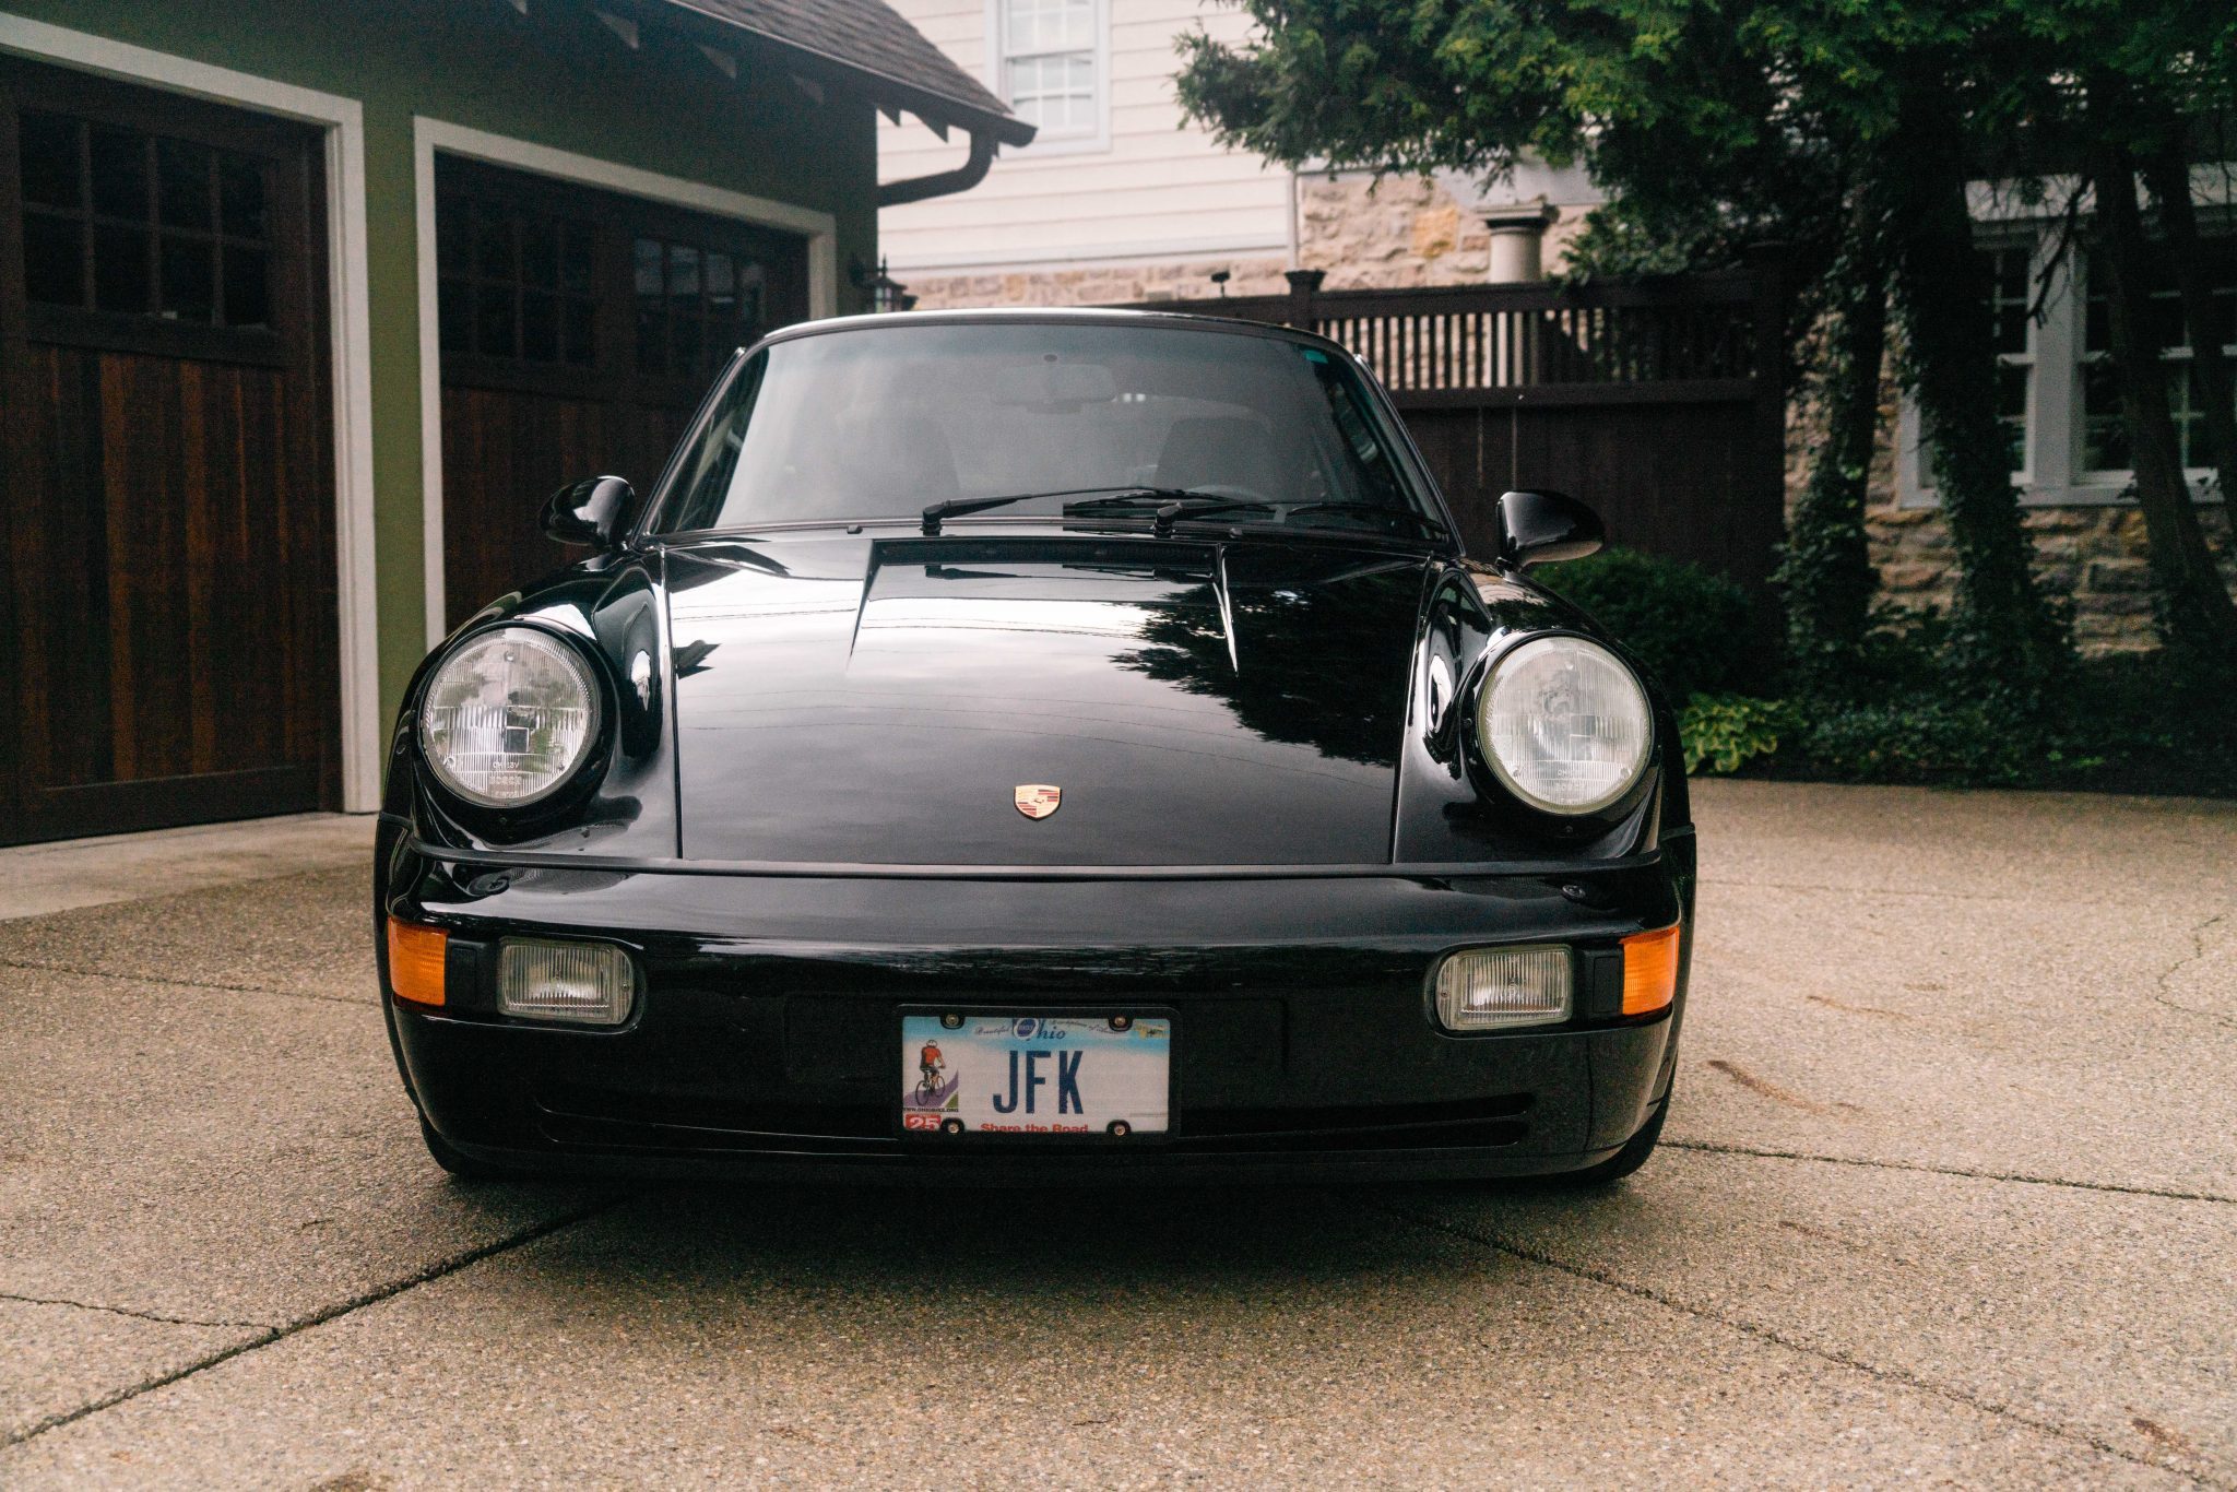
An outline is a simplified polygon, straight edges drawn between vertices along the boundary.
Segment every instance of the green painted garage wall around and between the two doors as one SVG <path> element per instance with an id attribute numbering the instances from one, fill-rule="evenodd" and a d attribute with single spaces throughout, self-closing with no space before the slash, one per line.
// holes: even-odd
<path id="1" fill-rule="evenodd" d="M 810 103 L 745 56 L 738 81 L 651 31 L 631 51 L 582 0 L 4 0 L 76 31 L 365 105 L 380 700 L 425 651 L 418 230 L 412 116 L 490 130 L 839 219 L 843 271 L 877 262 L 877 116 Z M 383 727 L 385 731 L 385 720 Z"/>

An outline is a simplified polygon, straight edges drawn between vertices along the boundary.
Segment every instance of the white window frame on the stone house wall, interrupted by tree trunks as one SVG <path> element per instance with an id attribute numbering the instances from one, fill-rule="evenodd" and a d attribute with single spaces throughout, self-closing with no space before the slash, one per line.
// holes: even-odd
<path id="1" fill-rule="evenodd" d="M 2199 228 L 2221 235 L 2237 228 L 2230 210 L 2219 204 L 2228 192 L 2224 166 L 2192 168 L 2192 195 L 2199 201 Z M 2069 181 L 2054 181 L 2047 201 L 2065 201 Z M 2040 277 L 2045 257 L 2056 246 L 2056 221 L 2047 208 L 2013 210 L 2013 195 L 1991 188 L 1975 188 L 1973 217 L 1982 224 L 1978 242 L 1982 248 L 2011 246 L 2033 237 L 2029 275 Z M 2011 483 L 2020 488 L 2020 503 L 2027 508 L 2103 508 L 2134 506 L 2134 497 L 2123 497 L 2134 483 L 2134 472 L 2089 472 L 2083 470 L 2083 349 L 2087 329 L 2087 280 L 2083 277 L 2083 255 L 2074 248 L 2065 264 L 2051 275 L 2049 293 L 2042 302 L 2042 320 L 2029 331 L 2029 351 L 2036 376 L 2027 394 L 2027 445 L 2022 470 Z M 2009 356 L 2007 360 L 2018 360 Z M 2170 362 L 2174 367 L 2174 362 Z M 1919 445 L 1919 409 L 1906 394 L 1895 418 L 1895 503 L 1897 508 L 1937 508 L 1939 494 L 1926 481 L 1926 454 Z M 2190 468 L 2190 497 L 2206 501 L 2210 468 Z"/>

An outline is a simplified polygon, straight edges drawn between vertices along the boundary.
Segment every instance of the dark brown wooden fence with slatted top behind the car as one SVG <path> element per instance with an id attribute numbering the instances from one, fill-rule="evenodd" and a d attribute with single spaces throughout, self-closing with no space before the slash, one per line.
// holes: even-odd
<path id="1" fill-rule="evenodd" d="M 1376 371 L 1461 519 L 1497 548 L 1508 488 L 1588 501 L 1615 544 L 1763 588 L 1785 514 L 1778 255 L 1626 284 L 1470 284 L 1150 302 L 1306 327 Z"/>

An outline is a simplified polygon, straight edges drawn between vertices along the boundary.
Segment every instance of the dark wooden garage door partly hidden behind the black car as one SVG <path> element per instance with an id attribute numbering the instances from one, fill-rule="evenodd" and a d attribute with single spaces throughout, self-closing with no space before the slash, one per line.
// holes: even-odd
<path id="1" fill-rule="evenodd" d="M 553 490 L 651 488 L 729 353 L 808 313 L 794 235 L 452 157 L 436 257 L 454 626 L 573 557 L 537 528 Z"/>

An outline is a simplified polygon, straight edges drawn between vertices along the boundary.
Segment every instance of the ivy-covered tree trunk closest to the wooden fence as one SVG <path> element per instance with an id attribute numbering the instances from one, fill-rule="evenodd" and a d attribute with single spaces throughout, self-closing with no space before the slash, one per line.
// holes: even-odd
<path id="1" fill-rule="evenodd" d="M 1794 503 L 1776 577 L 1787 604 L 1787 651 L 1814 691 L 1846 682 L 1879 586 L 1863 535 L 1863 499 L 1879 434 L 1886 329 L 1886 244 L 1877 213 L 1859 204 L 1850 213 L 1848 244 L 1828 275 L 1819 367 L 1825 438 Z"/>

